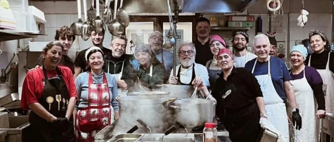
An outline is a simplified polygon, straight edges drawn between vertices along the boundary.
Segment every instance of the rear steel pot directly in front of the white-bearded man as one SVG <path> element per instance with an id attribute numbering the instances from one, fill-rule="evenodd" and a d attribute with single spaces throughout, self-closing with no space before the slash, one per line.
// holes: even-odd
<path id="1" fill-rule="evenodd" d="M 156 85 L 155 91 L 170 92 L 170 96 L 175 98 L 187 99 L 194 92 L 194 87 L 191 85 L 171 85 L 163 84 Z"/>

